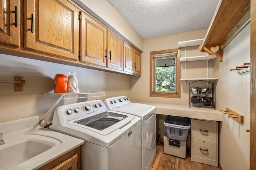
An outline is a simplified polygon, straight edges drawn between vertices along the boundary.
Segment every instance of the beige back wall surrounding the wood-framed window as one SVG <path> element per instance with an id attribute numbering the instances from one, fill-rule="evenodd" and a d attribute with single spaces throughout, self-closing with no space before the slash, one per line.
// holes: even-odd
<path id="1" fill-rule="evenodd" d="M 165 98 L 165 97 L 150 97 L 149 96 L 149 80 L 150 80 L 150 51 L 159 51 L 164 49 L 178 48 L 178 42 L 195 40 L 204 38 L 207 29 L 196 30 L 163 36 L 144 40 L 144 52 L 142 53 L 142 75 L 140 78 L 131 77 L 131 93 L 130 98 L 133 101 L 144 101 L 152 103 L 171 103 L 177 105 L 188 105 L 189 101 L 189 81 L 187 85 L 184 81 L 181 82 L 181 97 Z M 199 45 L 198 45 L 199 46 Z M 198 50 L 198 46 L 187 47 L 187 57 L 206 55 Z M 185 48 L 181 48 L 181 57 L 185 57 Z M 214 77 L 213 61 L 209 61 L 210 73 L 209 77 Z M 206 61 L 187 62 L 187 78 L 207 77 Z M 185 63 L 181 63 L 181 78 L 185 78 Z M 190 81 L 191 82 L 191 81 Z"/>

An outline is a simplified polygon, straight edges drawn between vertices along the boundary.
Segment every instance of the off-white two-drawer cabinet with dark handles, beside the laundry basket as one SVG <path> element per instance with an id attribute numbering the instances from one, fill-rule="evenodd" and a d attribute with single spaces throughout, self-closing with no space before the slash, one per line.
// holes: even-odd
<path id="1" fill-rule="evenodd" d="M 191 119 L 191 161 L 218 167 L 218 122 Z"/>

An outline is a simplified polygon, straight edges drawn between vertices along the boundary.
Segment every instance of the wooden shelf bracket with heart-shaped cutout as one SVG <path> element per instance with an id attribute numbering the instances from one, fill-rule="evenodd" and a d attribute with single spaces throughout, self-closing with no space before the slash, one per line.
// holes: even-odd
<path id="1" fill-rule="evenodd" d="M 205 47 L 201 49 L 202 45 L 199 46 L 199 50 L 202 52 L 206 52 L 209 55 L 217 55 L 219 57 L 219 61 L 222 62 L 222 49 L 220 48 L 220 43 L 212 44 L 212 45 L 205 45 Z"/>

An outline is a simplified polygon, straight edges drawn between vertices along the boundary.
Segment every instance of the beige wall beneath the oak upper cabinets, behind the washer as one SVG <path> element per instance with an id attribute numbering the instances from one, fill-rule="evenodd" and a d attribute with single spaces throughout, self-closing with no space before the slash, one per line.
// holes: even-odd
<path id="1" fill-rule="evenodd" d="M 0 123 L 39 115 L 40 119 L 57 101 L 60 95 L 43 95 L 44 91 L 53 93 L 54 75 L 75 71 L 80 91 L 102 91 L 107 97 L 129 95 L 130 77 L 81 67 L 73 67 L 46 61 L 0 54 L 0 80 L 14 80 L 22 76 L 26 81 L 23 91 L 14 92 L 13 83 L 0 83 Z M 88 98 L 88 100 L 94 100 Z M 79 101 L 86 101 L 80 99 Z M 60 101 L 59 105 L 75 103 L 77 100 Z M 52 113 L 46 122 L 52 120 Z"/>

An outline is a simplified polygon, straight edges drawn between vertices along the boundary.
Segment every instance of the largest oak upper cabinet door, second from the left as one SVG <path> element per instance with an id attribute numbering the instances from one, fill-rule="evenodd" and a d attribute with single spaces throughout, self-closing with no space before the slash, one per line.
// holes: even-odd
<path id="1" fill-rule="evenodd" d="M 78 58 L 78 8 L 67 0 L 26 0 L 25 47 Z"/>

